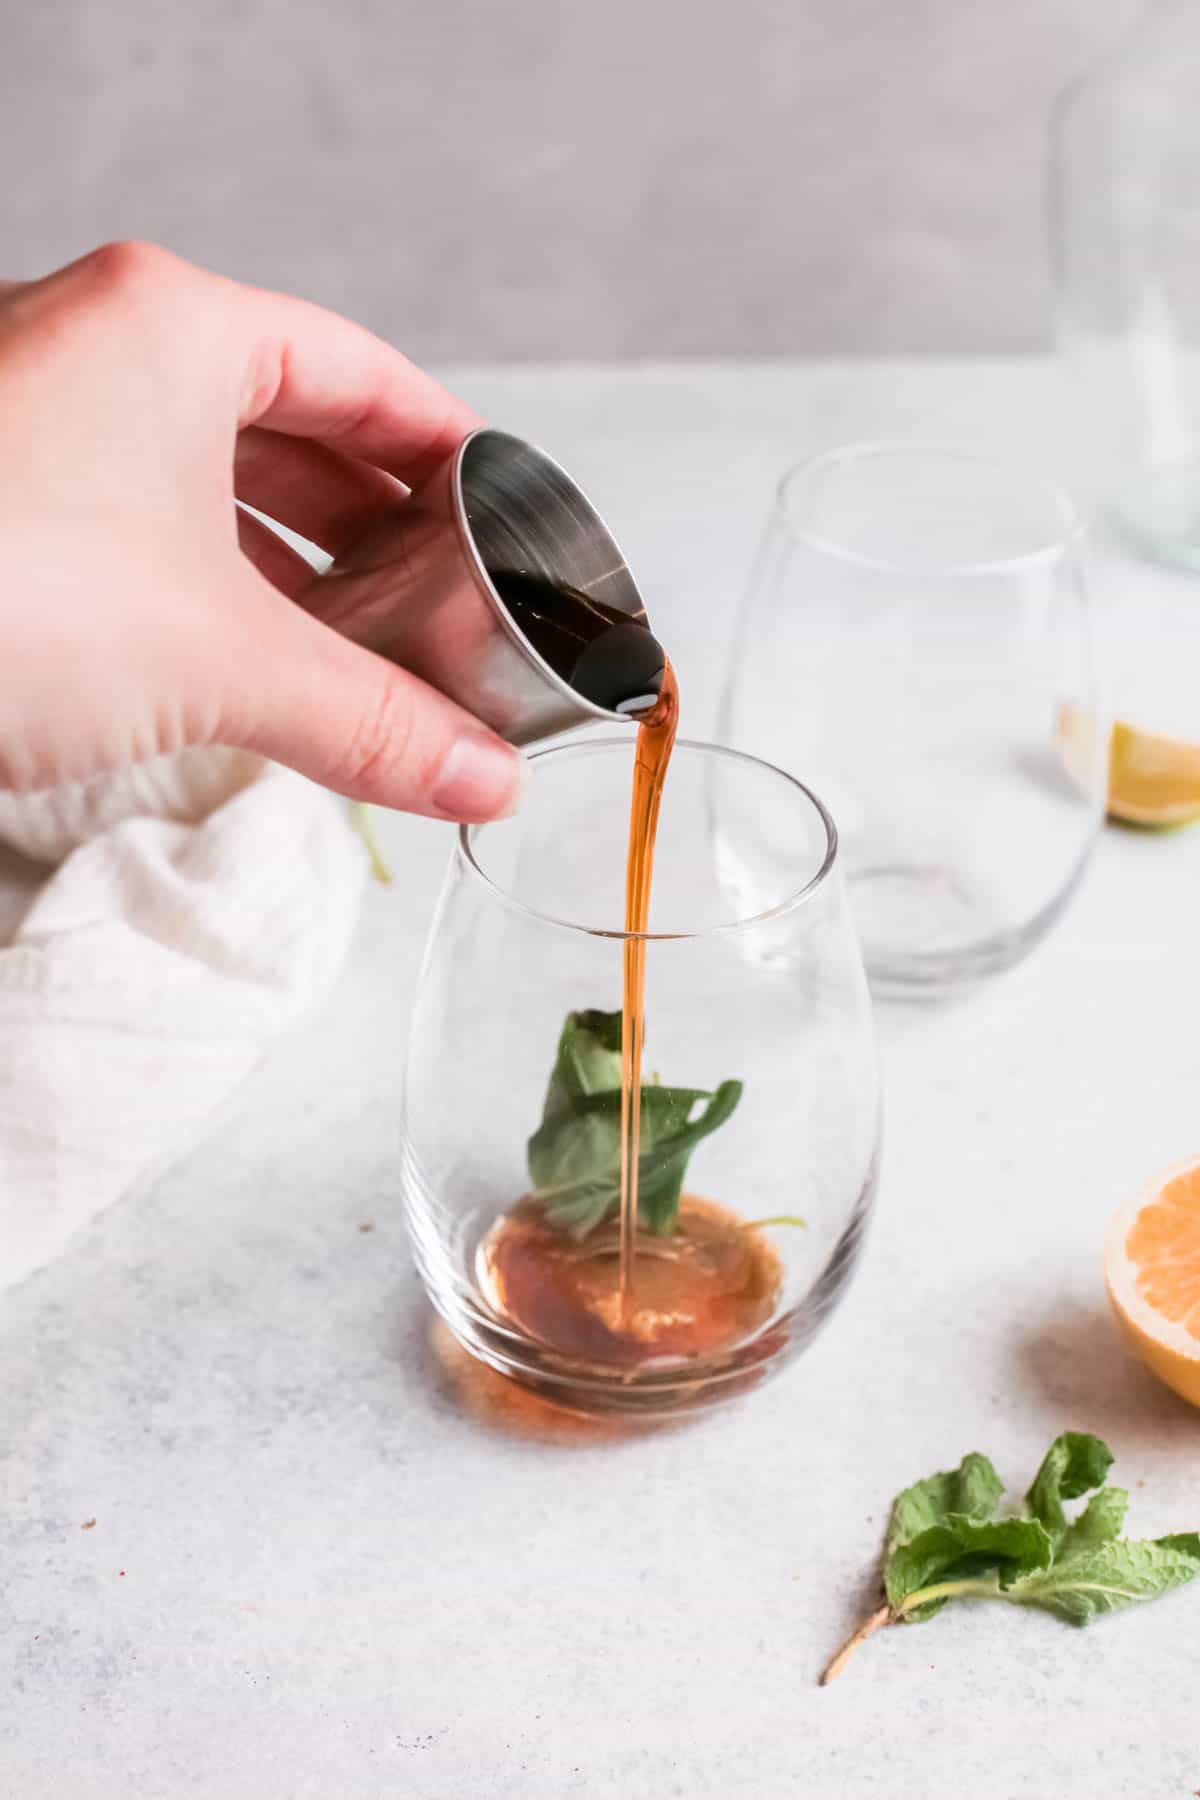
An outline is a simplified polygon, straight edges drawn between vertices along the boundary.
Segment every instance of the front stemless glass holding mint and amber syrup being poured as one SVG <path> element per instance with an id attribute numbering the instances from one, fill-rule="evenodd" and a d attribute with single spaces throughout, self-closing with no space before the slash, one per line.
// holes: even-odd
<path id="1" fill-rule="evenodd" d="M 880 1096 L 829 815 L 768 763 L 680 742 L 644 934 L 642 1080 L 646 1093 L 694 1089 L 696 1116 L 721 1084 L 741 1084 L 691 1154 L 680 1208 L 720 1222 L 712 1255 L 741 1273 L 736 1305 L 725 1292 L 694 1310 L 694 1296 L 673 1298 L 666 1264 L 685 1251 L 703 1280 L 725 1280 L 725 1264 L 705 1262 L 703 1242 L 639 1231 L 633 1323 L 622 1314 L 617 1328 L 615 1231 L 560 1228 L 536 1197 L 547 1175 L 540 1163 L 531 1175 L 529 1138 L 567 1017 L 588 1013 L 590 1028 L 606 1015 L 619 1031 L 631 769 L 630 738 L 556 745 L 531 758 L 518 817 L 459 833 L 412 1019 L 403 1188 L 425 1287 L 473 1355 L 560 1404 L 655 1417 L 743 1391 L 829 1314 L 874 1195 Z M 565 1055 L 581 1042 L 603 1064 L 590 1035 L 563 1039 Z M 597 1105 L 603 1139 L 619 1111 L 612 1091 Z M 545 1255 L 527 1305 L 498 1274 L 497 1246 L 515 1240 Z M 578 1258 L 608 1258 L 606 1273 Z M 604 1276 L 608 1310 L 572 1312 L 561 1280 L 581 1267 Z M 631 1354 L 637 1332 L 644 1355 Z"/>

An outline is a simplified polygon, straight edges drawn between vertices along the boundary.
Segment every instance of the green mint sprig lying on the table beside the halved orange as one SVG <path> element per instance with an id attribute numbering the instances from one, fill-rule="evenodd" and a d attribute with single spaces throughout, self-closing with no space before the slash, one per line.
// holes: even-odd
<path id="1" fill-rule="evenodd" d="M 950 1600 L 1009 1600 L 1088 1625 L 1195 1580 L 1200 1532 L 1123 1539 L 1128 1494 L 1105 1487 L 1110 1467 L 1106 1444 L 1063 1431 L 1009 1517 L 997 1517 L 1004 1483 L 977 1451 L 907 1487 L 892 1501 L 883 1543 L 885 1604 L 846 1640 L 822 1687 L 883 1625 L 932 1618 Z M 1085 1494 L 1087 1507 L 1069 1517 L 1065 1501 Z"/>

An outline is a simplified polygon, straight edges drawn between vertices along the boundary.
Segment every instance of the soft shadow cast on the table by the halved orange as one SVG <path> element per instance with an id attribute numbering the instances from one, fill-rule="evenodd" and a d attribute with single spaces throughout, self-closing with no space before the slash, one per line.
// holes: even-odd
<path id="1" fill-rule="evenodd" d="M 1067 1305 L 1016 1345 L 1024 1388 L 1052 1431 L 1094 1431 L 1114 1449 L 1195 1438 L 1196 1411 L 1128 1355 L 1101 1305 Z"/>

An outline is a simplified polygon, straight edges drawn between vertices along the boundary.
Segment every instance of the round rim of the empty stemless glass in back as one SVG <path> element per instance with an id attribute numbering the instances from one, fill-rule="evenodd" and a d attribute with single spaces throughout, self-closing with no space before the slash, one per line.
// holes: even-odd
<path id="1" fill-rule="evenodd" d="M 896 461 L 943 457 L 952 463 L 973 463 L 984 468 L 1004 470 L 1016 484 L 1031 493 L 1036 493 L 1043 502 L 1049 500 L 1051 508 L 1058 515 L 1058 531 L 1052 536 L 1047 536 L 1047 542 L 1042 542 L 1027 551 L 1016 551 L 1011 556 L 963 556 L 948 558 L 945 562 L 918 562 L 871 556 L 865 551 L 851 549 L 849 544 L 840 544 L 837 536 L 824 536 L 819 531 L 808 531 L 795 520 L 792 513 L 793 484 L 799 484 L 804 477 L 815 475 L 820 470 L 851 463 L 876 463 L 889 457 Z M 797 544 L 804 544 L 810 549 L 819 551 L 822 556 L 851 563 L 856 569 L 874 569 L 887 574 L 916 574 L 927 580 L 964 574 L 1007 574 L 1058 562 L 1069 551 L 1078 547 L 1085 531 L 1083 513 L 1060 481 L 1054 481 L 1051 475 L 1040 475 L 1027 470 L 1015 452 L 991 450 L 981 445 L 963 445 L 939 437 L 865 437 L 856 443 L 838 445 L 833 450 L 820 450 L 817 455 L 804 457 L 804 461 L 793 463 L 786 468 L 775 482 L 774 511 Z"/>

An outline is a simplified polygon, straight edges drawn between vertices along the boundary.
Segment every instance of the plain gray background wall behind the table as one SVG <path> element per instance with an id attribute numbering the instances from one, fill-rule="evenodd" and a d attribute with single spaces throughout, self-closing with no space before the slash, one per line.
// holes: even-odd
<path id="1" fill-rule="evenodd" d="M 417 358 L 1045 338 L 1139 0 L 2 0 L 2 266 L 160 239 Z"/>

